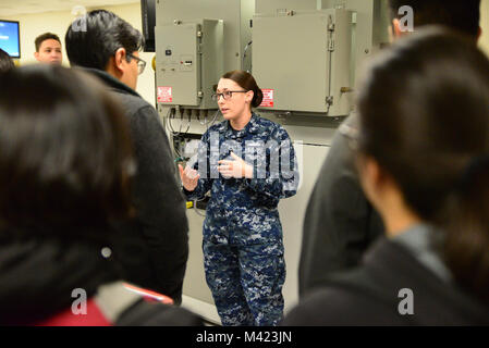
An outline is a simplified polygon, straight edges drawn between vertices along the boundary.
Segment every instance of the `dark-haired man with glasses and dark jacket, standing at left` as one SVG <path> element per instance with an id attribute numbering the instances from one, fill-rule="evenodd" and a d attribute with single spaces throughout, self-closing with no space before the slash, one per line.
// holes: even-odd
<path id="1" fill-rule="evenodd" d="M 83 26 L 83 30 L 77 29 Z M 75 20 L 65 36 L 72 66 L 97 76 L 130 122 L 137 172 L 135 217 L 118 223 L 129 281 L 181 301 L 188 257 L 188 224 L 167 135 L 154 107 L 134 89 L 145 62 L 142 34 L 115 14 L 96 10 Z"/>

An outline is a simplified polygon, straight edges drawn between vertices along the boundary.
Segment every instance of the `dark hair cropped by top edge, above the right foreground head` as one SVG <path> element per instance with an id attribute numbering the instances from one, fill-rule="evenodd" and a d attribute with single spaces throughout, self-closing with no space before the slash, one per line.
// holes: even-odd
<path id="1" fill-rule="evenodd" d="M 474 38 L 479 33 L 480 0 L 389 0 L 392 18 L 400 18 L 399 10 L 408 5 L 414 12 L 414 26 L 443 25 Z"/>

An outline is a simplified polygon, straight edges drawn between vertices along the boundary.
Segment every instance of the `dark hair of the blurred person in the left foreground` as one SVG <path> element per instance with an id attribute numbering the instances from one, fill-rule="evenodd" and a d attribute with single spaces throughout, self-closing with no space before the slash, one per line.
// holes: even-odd
<path id="1" fill-rule="evenodd" d="M 129 216 L 130 133 L 103 87 L 52 65 L 0 82 L 0 225 L 69 235 Z"/>

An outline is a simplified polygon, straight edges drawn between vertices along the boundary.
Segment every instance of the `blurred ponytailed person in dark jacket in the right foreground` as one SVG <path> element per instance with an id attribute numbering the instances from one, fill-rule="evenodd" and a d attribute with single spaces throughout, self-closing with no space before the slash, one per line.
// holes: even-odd
<path id="1" fill-rule="evenodd" d="M 284 325 L 489 325 L 488 110 L 489 60 L 467 37 L 430 29 L 371 62 L 359 128 L 341 132 L 388 238 Z"/>

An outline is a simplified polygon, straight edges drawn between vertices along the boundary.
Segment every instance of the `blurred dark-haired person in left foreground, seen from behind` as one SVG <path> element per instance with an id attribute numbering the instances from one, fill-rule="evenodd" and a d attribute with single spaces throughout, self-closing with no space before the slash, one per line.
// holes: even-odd
<path id="1" fill-rule="evenodd" d="M 117 100 L 61 66 L 0 83 L 0 325 L 201 324 L 123 286 L 110 222 L 132 214 L 134 154 Z"/>

